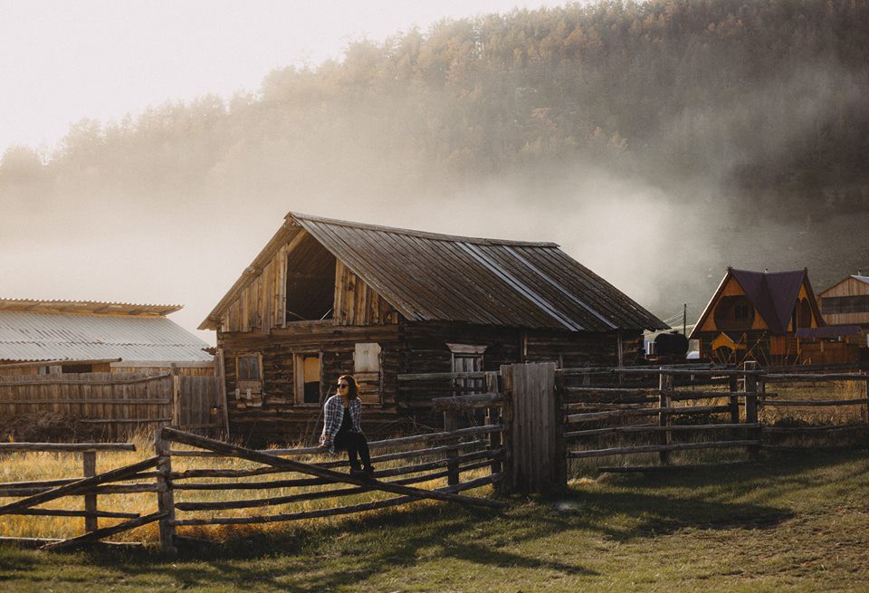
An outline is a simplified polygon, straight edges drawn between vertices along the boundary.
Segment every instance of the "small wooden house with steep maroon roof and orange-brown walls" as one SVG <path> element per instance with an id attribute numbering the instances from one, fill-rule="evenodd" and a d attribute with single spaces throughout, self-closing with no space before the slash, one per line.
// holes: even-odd
<path id="1" fill-rule="evenodd" d="M 797 330 L 823 325 L 807 270 L 728 268 L 690 339 L 702 359 L 789 364 L 799 360 Z"/>

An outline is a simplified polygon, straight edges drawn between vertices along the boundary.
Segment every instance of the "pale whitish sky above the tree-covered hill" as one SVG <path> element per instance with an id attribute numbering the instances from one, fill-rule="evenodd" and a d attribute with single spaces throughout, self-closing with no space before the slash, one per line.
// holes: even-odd
<path id="1" fill-rule="evenodd" d="M 70 123 L 113 120 L 166 100 L 256 91 L 289 64 L 339 58 L 442 18 L 536 0 L 0 0 L 0 152 L 51 148 Z"/>

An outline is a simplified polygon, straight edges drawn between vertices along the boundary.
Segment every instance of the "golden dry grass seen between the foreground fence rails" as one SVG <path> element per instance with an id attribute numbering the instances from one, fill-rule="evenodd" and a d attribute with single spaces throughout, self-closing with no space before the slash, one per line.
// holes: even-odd
<path id="1" fill-rule="evenodd" d="M 136 445 L 135 452 L 99 452 L 97 454 L 97 472 L 104 472 L 123 465 L 133 464 L 153 454 L 153 445 L 147 435 L 134 435 L 129 439 Z M 175 450 L 196 450 L 194 447 L 174 445 Z M 392 451 L 378 449 L 372 454 L 386 454 Z M 345 459 L 336 455 L 328 454 L 310 455 L 301 458 L 307 463 L 322 463 Z M 434 457 L 417 457 L 412 460 L 395 460 L 378 463 L 377 469 L 383 470 L 406 464 L 418 464 L 432 461 Z M 233 469 L 251 470 L 262 467 L 242 459 L 225 457 L 173 457 L 173 471 L 185 471 L 190 469 Z M 39 480 L 57 480 L 62 478 L 80 477 L 82 472 L 81 454 L 74 453 L 16 453 L 7 454 L 3 459 L 0 470 L 0 482 L 30 482 Z M 339 468 L 346 471 L 346 468 Z M 487 468 L 462 473 L 462 480 L 467 481 L 488 474 Z M 417 473 L 408 474 L 410 477 Z M 310 477 L 301 473 L 268 473 L 246 478 L 192 478 L 183 483 L 237 483 L 237 482 L 268 482 L 272 480 L 285 480 Z M 153 483 L 153 479 L 148 482 Z M 133 482 L 124 482 L 133 483 Z M 141 481 L 139 482 L 141 483 Z M 216 490 L 216 491 L 189 491 L 176 490 L 176 502 L 221 502 L 241 501 L 250 499 L 272 498 L 277 496 L 289 496 L 294 494 L 320 492 L 336 488 L 346 488 L 348 484 L 329 484 L 324 486 L 291 487 L 291 488 L 268 488 L 262 490 Z M 424 483 L 415 483 L 415 487 L 435 488 L 446 485 L 446 478 L 437 478 Z M 292 502 L 289 504 L 253 507 L 248 509 L 226 511 L 198 511 L 177 512 L 177 518 L 194 519 L 207 517 L 244 517 L 256 515 L 272 515 L 285 512 L 306 512 L 318 509 L 327 509 L 335 506 L 374 502 L 394 496 L 389 493 L 369 491 L 353 495 L 344 495 L 340 498 L 325 498 L 312 501 Z M 4 498 L 2 502 L 11 502 L 16 499 Z M 44 509 L 83 510 L 84 500 L 82 496 L 71 496 L 39 505 Z M 98 499 L 100 511 L 108 512 L 138 512 L 148 514 L 157 512 L 157 495 L 155 493 L 132 493 L 132 494 L 100 494 Z M 110 526 L 122 520 L 100 519 L 100 527 Z M 300 525 L 310 524 L 312 521 L 328 524 L 332 519 L 310 519 L 294 521 Z M 4 515 L 0 521 L 0 536 L 4 537 L 30 537 L 30 538 L 69 538 L 80 535 L 83 532 L 84 519 L 79 517 L 41 517 L 31 515 Z M 272 531 L 285 529 L 282 523 L 258 523 L 252 525 L 215 525 L 215 526 L 184 526 L 178 528 L 182 535 L 206 537 L 212 540 L 228 540 L 242 537 L 252 533 L 265 534 Z M 146 543 L 158 541 L 158 526 L 151 523 L 133 531 L 126 531 L 112 538 L 116 541 L 143 541 Z"/>

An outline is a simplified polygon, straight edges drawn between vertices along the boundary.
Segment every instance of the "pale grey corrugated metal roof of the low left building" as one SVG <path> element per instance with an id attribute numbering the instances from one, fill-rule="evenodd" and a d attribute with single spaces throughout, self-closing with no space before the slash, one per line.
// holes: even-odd
<path id="1" fill-rule="evenodd" d="M 193 362 L 208 345 L 165 317 L 0 311 L 0 360 Z"/>

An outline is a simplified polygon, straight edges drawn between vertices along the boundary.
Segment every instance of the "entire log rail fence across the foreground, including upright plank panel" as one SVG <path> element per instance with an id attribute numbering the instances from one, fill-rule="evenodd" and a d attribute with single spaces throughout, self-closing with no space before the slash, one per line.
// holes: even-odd
<path id="1" fill-rule="evenodd" d="M 608 374 L 606 385 L 589 385 L 589 373 L 600 373 L 601 377 Z M 653 377 L 657 385 L 641 386 L 637 379 L 625 381 L 630 387 L 619 387 L 619 380 L 610 380 L 614 374 Z M 712 385 L 718 385 L 722 378 L 726 387 L 721 389 L 695 388 L 711 380 Z M 790 429 L 765 424 L 762 417 L 765 408 L 869 406 L 865 389 L 860 397 L 825 399 L 785 399 L 766 389 L 768 385 L 807 381 L 859 382 L 865 387 L 864 373 L 797 374 L 761 370 L 751 364 L 740 369 L 598 370 L 557 369 L 552 363 L 538 363 L 504 366 L 499 372 L 430 373 L 399 378 L 423 383 L 453 383 L 460 379 L 473 380 L 481 392 L 432 400 L 433 411 L 444 414 L 447 426 L 444 431 L 370 443 L 371 461 L 380 466 L 371 478 L 345 473 L 346 460 L 321 461 L 317 456 L 323 450 L 318 447 L 257 451 L 162 427 L 155 435 L 153 456 L 104 473 L 94 471 L 96 452 L 105 447 L 129 448 L 129 445 L 0 444 L 0 454 L 10 450 L 55 450 L 81 451 L 85 455 L 81 478 L 0 483 L 0 496 L 18 499 L 0 506 L 0 515 L 53 514 L 85 519 L 85 532 L 77 537 L 36 542 L 45 548 L 98 541 L 158 521 L 163 550 L 174 552 L 179 544 L 191 540 L 177 533 L 178 528 L 186 526 L 296 521 L 424 499 L 501 507 L 504 502 L 462 493 L 486 484 L 496 485 L 501 493 L 553 493 L 567 486 L 571 460 L 656 454 L 659 462 L 656 466 L 623 464 L 600 468 L 648 471 L 654 467 L 684 467 L 673 465 L 673 454 L 690 450 L 735 448 L 755 457 L 763 449 L 780 448 L 770 444 L 766 435 L 781 435 L 782 430 Z M 683 388 L 676 388 L 676 384 Z M 869 413 L 857 426 L 863 435 L 869 435 L 867 418 Z M 479 424 L 461 426 L 475 422 Z M 794 427 L 788 434 L 799 436 L 803 428 Z M 811 428 L 809 432 L 814 435 L 819 429 L 841 427 Z M 621 442 L 613 445 L 607 441 L 613 438 Z M 634 442 L 636 438 L 646 441 Z M 195 460 L 193 467 L 179 468 L 178 460 L 182 458 L 186 459 L 185 464 L 191 458 Z M 197 466 L 199 459 L 207 463 Z M 223 467 L 215 463 L 228 460 L 236 462 Z M 237 460 L 253 465 L 242 466 Z M 238 491 L 255 494 L 239 499 Z M 100 512 L 97 497 L 107 493 L 155 493 L 156 508 L 143 513 Z M 364 493 L 392 496 L 374 500 L 368 497 L 364 502 L 353 500 Z M 84 511 L 37 508 L 43 502 L 70 496 L 85 497 Z M 310 501 L 321 501 L 320 508 L 305 508 L 304 504 Z M 294 506 L 299 504 L 301 508 Z M 265 507 L 272 510 L 262 514 L 244 512 Z M 101 519 L 122 521 L 100 527 Z"/>

